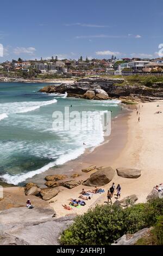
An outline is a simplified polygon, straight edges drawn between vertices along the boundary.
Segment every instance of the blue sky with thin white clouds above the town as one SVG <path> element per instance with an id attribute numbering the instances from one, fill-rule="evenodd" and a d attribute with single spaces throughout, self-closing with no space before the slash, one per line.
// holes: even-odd
<path id="1" fill-rule="evenodd" d="M 163 43 L 162 0 L 1 2 L 4 57 L 157 57 Z"/>

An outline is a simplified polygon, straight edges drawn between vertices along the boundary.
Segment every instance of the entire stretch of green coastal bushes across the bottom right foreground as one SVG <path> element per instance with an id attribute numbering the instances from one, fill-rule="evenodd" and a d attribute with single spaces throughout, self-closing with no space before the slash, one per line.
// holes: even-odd
<path id="1" fill-rule="evenodd" d="M 119 205 L 97 205 L 76 217 L 60 239 L 61 245 L 111 245 L 124 234 L 153 228 L 155 244 L 162 244 L 163 199 L 122 208 Z M 143 240 L 140 241 L 141 243 Z"/>

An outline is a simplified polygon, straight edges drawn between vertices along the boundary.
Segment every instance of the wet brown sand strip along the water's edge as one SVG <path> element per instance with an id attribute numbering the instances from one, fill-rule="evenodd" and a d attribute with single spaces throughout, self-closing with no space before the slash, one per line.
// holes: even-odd
<path id="1" fill-rule="evenodd" d="M 86 148 L 84 153 L 78 156 L 76 159 L 69 160 L 64 164 L 54 166 L 45 170 L 40 174 L 34 175 L 32 178 L 27 178 L 23 183 L 34 182 L 39 186 L 45 186 L 45 176 L 47 175 L 55 175 L 55 174 L 65 174 L 68 176 L 66 180 L 70 180 L 70 175 L 74 173 L 79 173 L 80 178 L 86 179 L 87 175 L 82 172 L 82 169 L 87 168 L 91 165 L 98 166 L 98 161 L 103 159 L 103 166 L 108 163 L 108 160 L 113 161 L 116 156 L 121 153 L 122 148 L 127 142 L 127 137 L 123 136 L 123 134 L 127 134 L 127 120 L 131 113 L 131 110 L 126 110 L 124 108 L 123 113 L 119 113 L 117 118 L 113 118 L 111 120 L 111 135 L 109 137 L 104 137 L 104 141 L 97 145 L 95 148 L 89 149 Z M 118 148 L 114 147 L 117 144 L 118 138 Z M 105 154 L 102 154 L 105 152 Z M 107 154 L 107 156 L 106 156 Z M 107 159 L 107 160 L 106 160 Z M 89 174 L 89 173 L 88 173 Z"/>

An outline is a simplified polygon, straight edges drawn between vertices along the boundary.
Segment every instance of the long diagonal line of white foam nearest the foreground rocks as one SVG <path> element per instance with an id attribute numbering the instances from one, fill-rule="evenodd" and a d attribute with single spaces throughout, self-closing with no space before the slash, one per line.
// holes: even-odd
<path id="1" fill-rule="evenodd" d="M 4 179 L 6 182 L 8 182 L 9 184 L 17 185 L 18 183 L 23 182 L 28 178 L 32 178 L 36 174 L 45 172 L 49 168 L 52 168 L 56 165 L 64 164 L 70 160 L 77 159 L 77 157 L 82 155 L 83 153 L 84 153 L 84 148 L 79 148 L 79 149 L 71 151 L 70 153 L 68 153 L 66 155 L 60 156 L 57 161 L 50 162 L 40 169 L 32 170 L 28 173 L 17 174 L 17 175 L 4 174 L 0 177 L 2 179 Z"/>

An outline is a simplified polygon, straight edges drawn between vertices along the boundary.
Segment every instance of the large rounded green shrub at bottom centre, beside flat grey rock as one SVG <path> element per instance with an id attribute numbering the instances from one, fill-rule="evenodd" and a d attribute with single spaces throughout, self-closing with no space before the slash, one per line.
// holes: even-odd
<path id="1" fill-rule="evenodd" d="M 123 235 L 124 212 L 120 207 L 96 206 L 76 218 L 61 236 L 64 245 L 109 245 Z"/>

